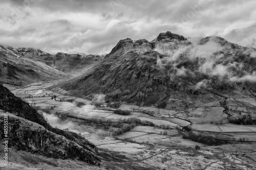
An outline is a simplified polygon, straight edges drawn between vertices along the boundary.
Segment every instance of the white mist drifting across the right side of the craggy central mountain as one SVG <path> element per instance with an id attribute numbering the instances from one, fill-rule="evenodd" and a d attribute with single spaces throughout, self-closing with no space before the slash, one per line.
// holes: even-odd
<path id="1" fill-rule="evenodd" d="M 181 43 L 177 48 L 174 48 L 172 43 L 170 43 L 169 48 L 166 44 L 156 46 L 155 51 L 167 55 L 167 57 L 157 59 L 157 66 L 161 69 L 164 69 L 165 66 L 171 66 L 171 77 L 194 75 L 194 72 L 200 72 L 209 78 L 217 76 L 219 80 L 256 82 L 255 72 L 253 74 L 246 72 L 245 66 L 242 63 L 231 62 L 231 58 L 229 60 L 226 56 L 246 55 L 254 58 L 256 57 L 256 50 L 254 48 L 240 47 L 242 53 L 236 54 L 237 52 L 231 47 L 232 44 L 220 37 L 208 37 L 207 42 L 204 43 L 202 43 L 205 41 L 203 38 L 189 38 L 189 40 L 192 45 L 184 46 Z M 233 45 L 237 46 L 237 44 Z M 185 61 L 191 62 L 194 65 L 190 65 L 189 68 L 184 66 L 177 67 Z M 241 76 L 245 76 L 237 77 L 238 73 Z M 196 86 L 206 87 L 206 82 L 200 81 Z"/>

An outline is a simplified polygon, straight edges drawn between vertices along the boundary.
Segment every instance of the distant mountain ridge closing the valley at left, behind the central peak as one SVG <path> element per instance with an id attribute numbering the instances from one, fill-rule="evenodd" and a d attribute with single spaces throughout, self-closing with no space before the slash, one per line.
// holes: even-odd
<path id="1" fill-rule="evenodd" d="M 71 72 L 87 70 L 99 63 L 104 55 L 81 53 L 52 55 L 35 48 L 0 45 L 0 57 L 1 82 L 24 85 L 60 79 Z"/>

